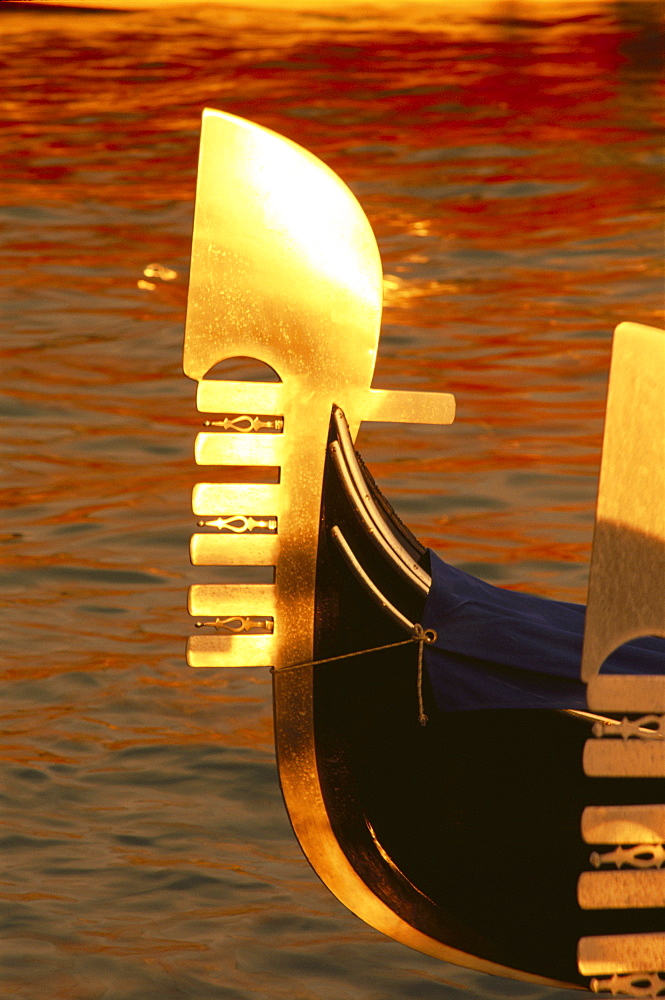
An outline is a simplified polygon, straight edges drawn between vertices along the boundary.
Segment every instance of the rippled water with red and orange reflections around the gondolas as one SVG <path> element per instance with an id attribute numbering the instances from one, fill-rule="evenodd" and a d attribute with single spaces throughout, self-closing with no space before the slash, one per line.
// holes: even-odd
<path id="1" fill-rule="evenodd" d="M 362 432 L 407 521 L 477 575 L 583 600 L 611 330 L 662 322 L 659 16 L 0 7 L 4 996 L 576 995 L 343 910 L 284 815 L 268 678 L 184 663 L 198 128 L 205 105 L 267 125 L 365 207 L 376 384 L 459 406 L 444 430 Z M 155 262 L 177 278 L 138 287 Z"/>

